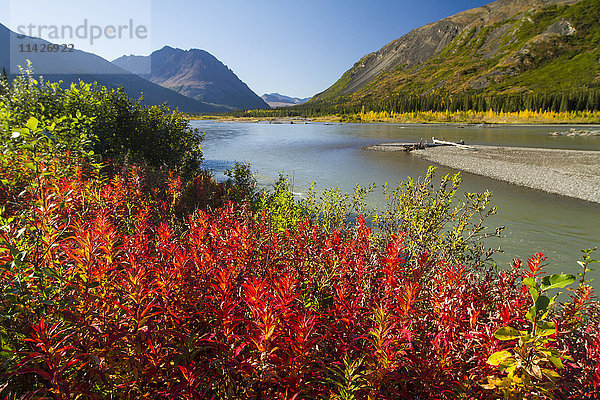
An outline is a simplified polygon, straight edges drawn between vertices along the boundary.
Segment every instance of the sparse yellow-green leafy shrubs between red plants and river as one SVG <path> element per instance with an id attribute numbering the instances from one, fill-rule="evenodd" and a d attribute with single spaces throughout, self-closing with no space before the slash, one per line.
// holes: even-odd
<path id="1" fill-rule="evenodd" d="M 420 180 L 408 178 L 395 189 L 384 185 L 386 206 L 377 209 L 367 202 L 375 185 L 357 185 L 352 194 L 331 188 L 320 195 L 313 185 L 306 198 L 297 200 L 289 181 L 280 176 L 273 190 L 260 196 L 258 209 L 264 210 L 280 231 L 293 230 L 307 219 L 318 221 L 326 232 L 353 229 L 354 217 L 362 215 L 373 228 L 371 240 L 382 250 L 397 232 L 403 232 L 413 265 L 422 263 L 418 257 L 423 255 L 427 255 L 428 265 L 448 262 L 478 270 L 492 263 L 497 250 L 488 248 L 484 240 L 500 236 L 504 228 L 485 226 L 486 219 L 496 214 L 496 208 L 490 206 L 491 193 L 465 193 L 460 198 L 460 174 L 445 175 L 439 184 L 435 181 L 435 168 L 430 167 Z M 427 277 L 430 271 L 421 272 Z"/>

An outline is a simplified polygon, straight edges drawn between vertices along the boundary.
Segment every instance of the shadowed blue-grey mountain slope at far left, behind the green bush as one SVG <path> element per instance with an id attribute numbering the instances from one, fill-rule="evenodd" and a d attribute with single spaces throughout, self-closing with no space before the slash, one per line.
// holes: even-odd
<path id="1" fill-rule="evenodd" d="M 11 43 L 13 44 L 11 52 Z M 23 37 L 17 39 L 17 34 L 9 30 L 6 26 L 0 24 L 0 69 L 6 71 L 18 71 L 17 66 L 25 66 L 27 59 L 33 64 L 34 73 L 37 69 L 46 81 L 63 81 L 63 85 L 70 85 L 72 82 L 83 80 L 86 83 L 98 82 L 108 88 L 123 87 L 125 92 L 133 98 L 140 97 L 143 93 L 143 103 L 147 105 L 160 105 L 167 103 L 171 108 L 179 108 L 183 112 L 191 113 L 216 113 L 223 112 L 222 107 L 202 103 L 197 100 L 185 97 L 177 92 L 156 85 L 135 74 L 125 71 L 109 61 L 92 53 L 80 50 L 73 52 L 19 52 L 19 47 L 33 48 L 37 45 L 41 50 L 42 45 L 47 47 L 50 42 L 39 38 Z M 36 73 L 36 75 L 40 75 Z M 14 76 L 9 75 L 9 78 Z"/>

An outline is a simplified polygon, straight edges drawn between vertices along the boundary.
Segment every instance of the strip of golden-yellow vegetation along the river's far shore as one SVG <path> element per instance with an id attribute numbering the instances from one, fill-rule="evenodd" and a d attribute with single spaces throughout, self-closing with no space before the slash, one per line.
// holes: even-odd
<path id="1" fill-rule="evenodd" d="M 396 124 L 543 124 L 543 125 L 598 125 L 600 111 L 531 111 L 476 112 L 476 111 L 415 111 L 395 113 L 368 111 L 355 114 L 331 114 L 323 116 L 280 116 L 276 110 L 252 110 L 232 114 L 198 115 L 186 114 L 191 120 L 215 120 L 222 122 L 272 122 L 295 123 L 295 121 L 326 123 L 396 123 Z"/>

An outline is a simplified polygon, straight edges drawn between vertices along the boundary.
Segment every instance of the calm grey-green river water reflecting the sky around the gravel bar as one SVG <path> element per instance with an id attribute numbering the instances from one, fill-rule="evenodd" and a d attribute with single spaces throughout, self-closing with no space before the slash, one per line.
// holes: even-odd
<path id="1" fill-rule="evenodd" d="M 356 184 L 372 183 L 391 187 L 411 176 L 422 176 L 430 165 L 410 153 L 375 152 L 363 146 L 393 142 L 419 141 L 431 137 L 464 139 L 467 144 L 547 147 L 600 150 L 600 137 L 553 137 L 548 133 L 569 127 L 454 127 L 398 124 L 268 124 L 193 121 L 205 132 L 205 167 L 217 178 L 234 161 L 249 162 L 259 183 L 272 184 L 280 172 L 288 175 L 294 192 L 302 196 L 312 181 L 317 189 L 339 187 L 352 192 Z M 600 168 L 600 166 L 599 166 Z M 438 167 L 438 176 L 456 170 Z M 575 273 L 581 249 L 600 245 L 600 205 L 551 195 L 462 173 L 461 191 L 493 192 L 492 205 L 498 215 L 487 226 L 506 226 L 504 237 L 490 242 L 500 245 L 503 254 L 495 257 L 506 266 L 515 257 L 527 259 L 535 252 L 548 256 L 551 272 Z M 381 206 L 381 191 L 370 201 Z M 600 251 L 596 254 L 600 258 Z M 600 264 L 592 273 L 594 286 L 600 283 Z"/>

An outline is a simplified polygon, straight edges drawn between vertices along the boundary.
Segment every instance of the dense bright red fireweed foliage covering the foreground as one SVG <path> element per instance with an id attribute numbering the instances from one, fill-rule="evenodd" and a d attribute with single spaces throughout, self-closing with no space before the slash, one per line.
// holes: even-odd
<path id="1" fill-rule="evenodd" d="M 362 218 L 282 232 L 205 176 L 61 165 L 29 186 L 1 171 L 7 398 L 497 398 L 487 360 L 510 343 L 494 333 L 527 325 L 541 255 L 529 271 L 432 266 L 402 232 L 378 250 Z M 600 390 L 592 295 L 554 311 L 572 357 L 558 398 Z"/>

